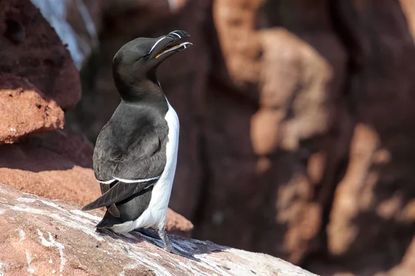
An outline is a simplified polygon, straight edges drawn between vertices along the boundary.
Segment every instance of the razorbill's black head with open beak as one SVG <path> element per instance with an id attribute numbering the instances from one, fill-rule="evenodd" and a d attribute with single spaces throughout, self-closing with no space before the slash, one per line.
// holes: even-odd
<path id="1" fill-rule="evenodd" d="M 190 35 L 183 30 L 175 30 L 157 38 L 139 37 L 124 44 L 113 58 L 113 78 L 121 93 L 122 90 L 148 89 L 158 85 L 156 70 L 160 63 L 175 52 L 192 46 L 190 42 L 178 42 Z"/>

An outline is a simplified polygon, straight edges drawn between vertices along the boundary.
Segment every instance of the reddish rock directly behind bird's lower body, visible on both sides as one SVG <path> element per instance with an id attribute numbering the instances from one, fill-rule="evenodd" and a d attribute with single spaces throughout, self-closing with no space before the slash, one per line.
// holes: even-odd
<path id="1" fill-rule="evenodd" d="M 68 130 L 30 137 L 26 143 L 0 146 L 0 176 L 26 193 L 86 205 L 101 195 L 92 170 L 93 146 Z M 167 231 L 191 237 L 193 224 L 167 210 Z"/>

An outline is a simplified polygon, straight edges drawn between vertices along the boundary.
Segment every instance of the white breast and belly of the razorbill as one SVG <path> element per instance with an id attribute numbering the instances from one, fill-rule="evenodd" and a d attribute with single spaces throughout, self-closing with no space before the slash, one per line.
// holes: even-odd
<path id="1" fill-rule="evenodd" d="M 142 227 L 160 229 L 165 226 L 167 207 L 169 206 L 170 193 L 172 193 L 174 174 L 176 172 L 179 130 L 176 111 L 170 106 L 169 101 L 167 101 L 167 104 L 169 110 L 165 115 L 165 120 L 169 126 L 169 141 L 167 141 L 166 145 L 165 169 L 160 175 L 160 179 L 154 185 L 149 207 L 135 221 L 128 221 L 129 223 L 113 226 L 114 232 L 124 233 Z"/>

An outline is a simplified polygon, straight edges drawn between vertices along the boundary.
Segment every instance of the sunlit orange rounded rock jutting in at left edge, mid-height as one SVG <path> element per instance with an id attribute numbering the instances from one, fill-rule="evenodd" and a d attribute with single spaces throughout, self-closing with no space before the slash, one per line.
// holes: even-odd
<path id="1" fill-rule="evenodd" d="M 0 144 L 62 129 L 64 112 L 27 79 L 0 74 Z"/>

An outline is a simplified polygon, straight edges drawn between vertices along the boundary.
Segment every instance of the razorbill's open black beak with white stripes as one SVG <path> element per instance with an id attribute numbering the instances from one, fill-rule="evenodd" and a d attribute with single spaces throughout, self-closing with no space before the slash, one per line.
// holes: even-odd
<path id="1" fill-rule="evenodd" d="M 184 30 L 175 30 L 173 32 L 169 32 L 169 34 L 164 35 L 163 37 L 160 37 L 151 47 L 149 52 L 150 57 L 157 59 L 158 57 L 163 57 L 165 55 L 169 56 L 174 52 L 185 50 L 186 48 L 193 45 L 190 42 L 183 42 L 174 45 L 174 41 L 182 39 L 183 37 L 190 37 L 190 35 Z"/>

